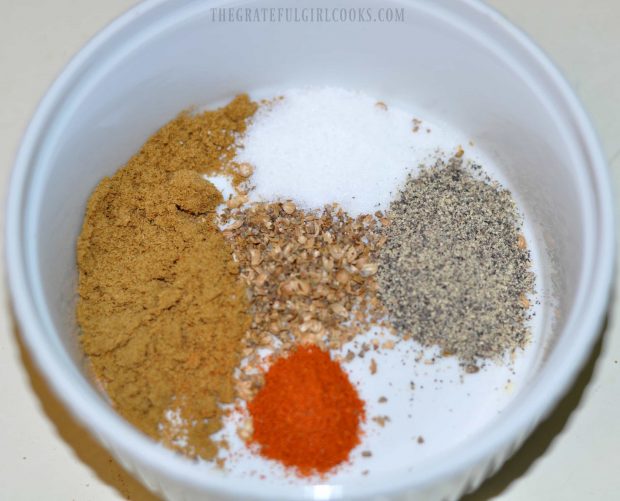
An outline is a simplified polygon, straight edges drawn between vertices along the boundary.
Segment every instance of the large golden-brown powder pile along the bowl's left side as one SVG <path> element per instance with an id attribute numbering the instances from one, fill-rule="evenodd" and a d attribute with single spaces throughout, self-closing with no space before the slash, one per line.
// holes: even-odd
<path id="1" fill-rule="evenodd" d="M 78 240 L 77 318 L 98 381 L 139 429 L 205 459 L 250 319 L 215 222 L 222 196 L 201 174 L 224 172 L 255 110 L 239 96 L 168 123 L 101 181 Z"/>

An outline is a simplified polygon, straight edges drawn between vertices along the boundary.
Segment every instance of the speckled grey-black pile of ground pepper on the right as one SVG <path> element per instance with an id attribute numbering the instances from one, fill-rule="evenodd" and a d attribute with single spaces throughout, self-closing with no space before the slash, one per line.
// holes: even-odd
<path id="1" fill-rule="evenodd" d="M 471 371 L 525 345 L 534 276 L 507 190 L 453 157 L 409 175 L 389 216 L 378 278 L 398 331 Z"/>

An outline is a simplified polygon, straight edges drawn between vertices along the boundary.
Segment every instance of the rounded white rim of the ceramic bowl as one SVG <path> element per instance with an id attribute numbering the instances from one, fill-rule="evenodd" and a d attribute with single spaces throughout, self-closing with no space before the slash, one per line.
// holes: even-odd
<path id="1" fill-rule="evenodd" d="M 205 2 L 205 5 L 207 7 L 220 6 L 231 1 Z M 403 6 L 416 3 L 415 0 L 399 0 L 399 2 Z M 505 451 L 525 439 L 535 425 L 550 413 L 573 383 L 598 338 L 599 328 L 605 317 L 615 266 L 614 209 L 607 163 L 591 121 L 566 79 L 527 35 L 479 0 L 462 0 L 461 3 L 461 8 L 486 17 L 505 36 L 511 38 L 526 51 L 533 63 L 544 71 L 558 99 L 561 99 L 566 113 L 574 121 L 574 127 L 581 140 L 581 147 L 592 167 L 589 176 L 595 195 L 594 204 L 598 211 L 597 236 L 599 238 L 596 245 L 592 244 L 595 245 L 595 255 L 591 263 L 588 293 L 584 291 L 581 298 L 576 300 L 579 307 L 575 308 L 571 319 L 575 320 L 575 317 L 579 315 L 579 321 L 569 320 L 565 326 L 564 330 L 573 332 L 574 335 L 571 344 L 563 353 L 560 366 L 563 366 L 562 370 L 552 372 L 548 370 L 549 367 L 543 369 L 541 374 L 545 377 L 540 378 L 531 392 L 523 395 L 520 412 L 508 413 L 502 419 L 497 420 L 484 437 L 477 437 L 476 447 L 464 448 L 461 451 L 462 454 L 454 454 L 449 461 L 440 464 L 435 461 L 434 464 L 420 467 L 418 471 L 408 475 L 381 477 L 382 481 L 389 479 L 389 483 L 386 483 L 389 489 L 383 488 L 379 482 L 376 485 L 373 484 L 373 488 L 365 485 L 363 490 L 352 485 L 347 486 L 343 491 L 331 492 L 330 495 L 334 498 L 343 495 L 366 497 L 385 493 L 388 490 L 398 492 L 414 488 L 421 489 L 441 479 L 450 479 L 481 463 L 488 462 L 488 465 L 494 465 L 493 468 L 499 466 L 509 455 Z M 109 406 L 106 406 L 85 382 L 76 384 L 76 374 L 73 368 L 66 367 L 54 357 L 52 350 L 46 349 L 49 347 L 49 340 L 30 290 L 33 277 L 29 273 L 23 238 L 23 219 L 26 214 L 25 195 L 31 171 L 36 162 L 37 148 L 45 137 L 46 125 L 54 120 L 58 103 L 67 93 L 71 92 L 72 84 L 89 65 L 93 54 L 106 44 L 112 44 L 114 38 L 132 23 L 166 8 L 174 7 L 170 6 L 166 0 L 147 0 L 106 26 L 71 59 L 38 105 L 22 138 L 6 199 L 5 264 L 12 306 L 21 327 L 22 338 L 56 395 L 100 441 L 111 446 L 108 448 L 111 448 L 117 457 L 119 455 L 129 457 L 136 464 L 144 465 L 152 472 L 172 478 L 175 482 L 187 483 L 203 492 L 267 499 L 290 496 L 312 497 L 313 493 L 304 487 L 283 486 L 280 488 L 271 485 L 267 487 L 260 481 L 251 479 L 242 483 L 234 483 L 224 476 L 205 475 L 204 472 L 198 472 L 196 469 L 186 468 L 186 460 L 176 457 L 131 427 Z M 501 459 L 496 460 L 500 455 Z M 130 466 L 130 469 L 135 472 L 135 468 Z M 159 488 L 161 489 L 161 486 Z M 322 492 L 324 496 L 325 491 Z M 327 498 L 322 497 L 322 499 Z"/>

